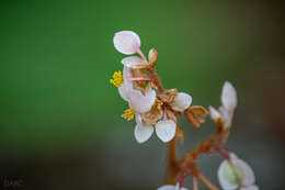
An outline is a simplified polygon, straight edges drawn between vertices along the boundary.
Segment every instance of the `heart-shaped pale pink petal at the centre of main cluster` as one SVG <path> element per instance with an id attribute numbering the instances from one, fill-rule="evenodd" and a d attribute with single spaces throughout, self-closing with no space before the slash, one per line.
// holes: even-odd
<path id="1" fill-rule="evenodd" d="M 157 98 L 155 90 L 149 90 L 146 96 L 139 90 L 133 90 L 129 93 L 129 105 L 138 113 L 148 112 L 153 105 Z"/>

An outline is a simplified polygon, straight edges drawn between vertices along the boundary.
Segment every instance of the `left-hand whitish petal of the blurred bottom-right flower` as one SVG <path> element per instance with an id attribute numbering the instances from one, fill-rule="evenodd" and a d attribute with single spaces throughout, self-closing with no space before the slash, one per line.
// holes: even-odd
<path id="1" fill-rule="evenodd" d="M 229 163 L 224 160 L 218 168 L 218 181 L 224 190 L 236 190 L 238 189 L 238 183 L 233 180 L 235 174 L 229 170 Z"/>

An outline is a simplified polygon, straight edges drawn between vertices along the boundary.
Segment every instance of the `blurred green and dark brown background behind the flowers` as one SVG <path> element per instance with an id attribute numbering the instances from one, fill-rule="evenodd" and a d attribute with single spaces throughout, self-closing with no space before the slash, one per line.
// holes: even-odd
<path id="1" fill-rule="evenodd" d="M 1 1 L 0 189 L 8 188 L 4 180 L 29 190 L 150 190 L 163 183 L 167 145 L 156 135 L 136 143 L 135 122 L 119 118 L 127 104 L 109 83 L 125 57 L 113 47 L 122 30 L 137 32 L 145 53 L 158 49 L 166 88 L 191 93 L 193 104 L 218 107 L 224 81 L 231 81 L 239 103 L 226 148 L 252 166 L 262 190 L 284 189 L 282 5 Z M 215 131 L 209 120 L 198 130 L 185 119 L 180 123 L 185 144 L 179 155 Z M 216 185 L 221 160 L 198 160 Z"/>

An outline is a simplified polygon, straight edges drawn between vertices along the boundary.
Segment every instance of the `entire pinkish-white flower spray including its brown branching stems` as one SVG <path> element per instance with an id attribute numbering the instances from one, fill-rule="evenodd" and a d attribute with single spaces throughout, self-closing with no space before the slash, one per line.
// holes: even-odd
<path id="1" fill-rule="evenodd" d="M 128 104 L 128 109 L 121 116 L 127 121 L 135 119 L 134 135 L 138 143 L 148 141 L 155 131 L 162 142 L 169 142 L 168 181 L 158 190 L 187 190 L 182 186 L 184 178 L 190 174 L 193 177 L 194 190 L 198 190 L 197 179 L 201 179 L 208 189 L 217 190 L 202 175 L 196 165 L 196 159 L 201 154 L 213 152 L 226 158 L 218 168 L 218 180 L 224 190 L 259 190 L 250 166 L 223 148 L 237 108 L 237 91 L 230 82 L 224 83 L 220 96 L 221 105 L 218 109 L 209 107 L 207 111 L 201 105 L 191 105 L 190 94 L 179 92 L 175 88 L 166 90 L 162 87 L 155 69 L 158 52 L 151 48 L 146 57 L 140 49 L 140 38 L 136 33 L 117 32 L 114 35 L 114 46 L 119 53 L 132 55 L 122 59 L 123 71 L 115 71 L 113 78 L 110 79 L 110 83 L 117 87 L 119 96 Z M 198 127 L 205 122 L 203 116 L 208 112 L 216 123 L 216 133 L 178 160 L 175 141 L 172 139 L 175 137 L 179 137 L 181 142 L 184 139 L 184 133 L 178 125 L 178 118 L 184 113 L 186 119 Z"/>

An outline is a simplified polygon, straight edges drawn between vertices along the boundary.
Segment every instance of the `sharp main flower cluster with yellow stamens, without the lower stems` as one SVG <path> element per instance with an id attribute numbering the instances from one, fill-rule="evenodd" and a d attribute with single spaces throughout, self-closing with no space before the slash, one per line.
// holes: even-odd
<path id="1" fill-rule="evenodd" d="M 158 53 L 149 51 L 148 59 L 140 49 L 140 38 L 132 31 L 122 31 L 114 35 L 115 48 L 125 55 L 138 54 L 122 59 L 123 74 L 116 71 L 110 80 L 118 88 L 121 97 L 128 102 L 122 118 L 136 119 L 135 138 L 144 143 L 156 131 L 158 137 L 167 143 L 175 136 L 175 114 L 186 110 L 192 97 L 176 89 L 166 90 L 157 94 L 155 82 L 148 77 L 149 69 L 156 64 Z"/>

